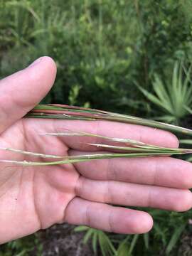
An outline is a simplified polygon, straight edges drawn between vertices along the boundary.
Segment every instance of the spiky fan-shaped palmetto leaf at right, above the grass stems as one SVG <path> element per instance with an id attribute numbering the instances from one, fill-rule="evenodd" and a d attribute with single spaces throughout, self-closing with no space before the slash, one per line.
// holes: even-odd
<path id="1" fill-rule="evenodd" d="M 159 75 L 154 75 L 152 85 L 155 94 L 139 85 L 138 87 L 148 100 L 165 113 L 156 119 L 174 124 L 181 123 L 181 119 L 189 114 L 188 109 L 192 105 L 191 68 L 186 70 L 182 63 L 176 62 L 171 81 L 163 82 Z"/>

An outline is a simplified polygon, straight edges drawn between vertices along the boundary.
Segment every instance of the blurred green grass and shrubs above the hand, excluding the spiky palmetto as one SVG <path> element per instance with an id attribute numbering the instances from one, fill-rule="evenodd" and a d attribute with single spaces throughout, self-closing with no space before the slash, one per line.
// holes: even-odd
<path id="1" fill-rule="evenodd" d="M 58 80 L 46 102 L 71 103 L 73 87 L 79 87 L 77 105 L 146 114 L 134 81 L 149 88 L 154 72 L 190 57 L 187 6 L 166 0 L 1 0 L 1 77 L 50 55 Z"/>

